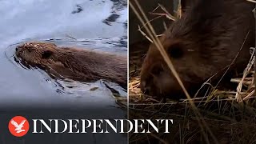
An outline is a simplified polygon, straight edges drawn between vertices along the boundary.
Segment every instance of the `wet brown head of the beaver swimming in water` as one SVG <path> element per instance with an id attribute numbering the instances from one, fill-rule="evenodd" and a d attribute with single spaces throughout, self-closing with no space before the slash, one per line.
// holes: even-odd
<path id="1" fill-rule="evenodd" d="M 50 62 L 50 57 L 54 54 L 56 45 L 44 42 L 30 42 L 17 46 L 16 55 L 22 61 L 30 65 L 38 65 Z"/>

